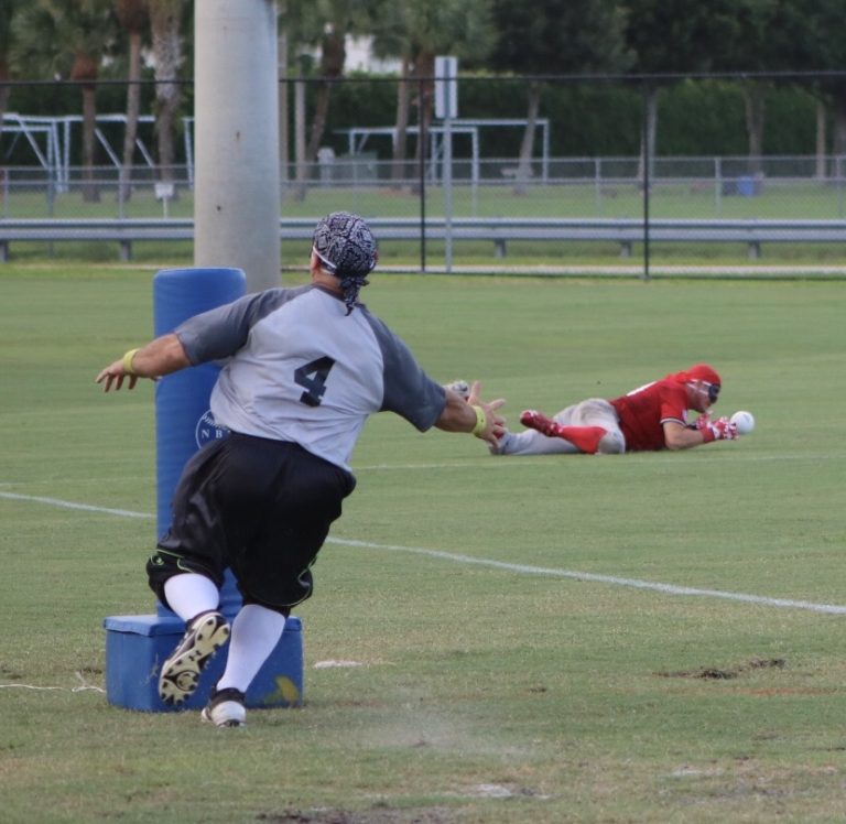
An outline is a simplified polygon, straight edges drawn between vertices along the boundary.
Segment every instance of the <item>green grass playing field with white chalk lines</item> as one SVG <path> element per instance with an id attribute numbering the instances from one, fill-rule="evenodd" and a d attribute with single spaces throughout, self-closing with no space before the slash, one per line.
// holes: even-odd
<path id="1" fill-rule="evenodd" d="M 94 377 L 150 336 L 153 273 L 0 269 L 3 822 L 846 818 L 846 285 L 376 275 L 514 424 L 708 360 L 758 427 L 494 458 L 377 415 L 297 609 L 305 705 L 218 730 L 102 693 L 102 619 L 155 611 L 153 393 Z"/>

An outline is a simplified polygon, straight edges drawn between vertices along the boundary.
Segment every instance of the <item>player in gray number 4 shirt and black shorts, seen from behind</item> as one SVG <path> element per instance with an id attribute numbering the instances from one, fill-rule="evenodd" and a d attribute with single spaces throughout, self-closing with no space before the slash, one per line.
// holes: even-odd
<path id="1" fill-rule="evenodd" d="M 377 261 L 365 220 L 323 218 L 314 232 L 311 283 L 271 289 L 197 315 L 106 367 L 105 391 L 133 389 L 212 360 L 225 362 L 212 392 L 229 436 L 185 465 L 173 521 L 148 562 L 150 586 L 186 622 L 163 663 L 159 692 L 182 704 L 229 638 L 226 669 L 203 717 L 246 722 L 245 693 L 312 594 L 311 566 L 355 487 L 349 459 L 365 421 L 391 411 L 417 430 L 467 432 L 496 443 L 502 401 L 469 400 L 432 380 L 409 348 L 358 302 Z M 243 606 L 218 611 L 224 571 Z"/>

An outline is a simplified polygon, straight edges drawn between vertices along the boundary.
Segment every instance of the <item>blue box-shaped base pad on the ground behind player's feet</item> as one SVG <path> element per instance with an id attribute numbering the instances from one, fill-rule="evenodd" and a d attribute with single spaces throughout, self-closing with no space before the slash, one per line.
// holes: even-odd
<path id="1" fill-rule="evenodd" d="M 232 616 L 227 616 L 231 620 Z M 224 674 L 228 647 L 218 650 L 199 677 L 196 692 L 180 707 L 159 697 L 162 661 L 185 631 L 176 617 L 121 615 L 104 620 L 106 628 L 106 697 L 109 704 L 142 712 L 200 709 Z M 276 649 L 247 691 L 248 707 L 301 706 L 303 703 L 303 632 L 299 618 L 285 624 Z"/>

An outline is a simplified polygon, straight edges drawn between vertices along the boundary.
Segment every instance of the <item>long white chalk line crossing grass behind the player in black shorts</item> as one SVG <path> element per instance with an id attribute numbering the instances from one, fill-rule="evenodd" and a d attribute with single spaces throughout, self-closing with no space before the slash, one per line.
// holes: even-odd
<path id="1" fill-rule="evenodd" d="M 58 498 L 44 498 L 41 496 L 18 495 L 14 492 L 4 491 L 0 491 L 0 498 L 31 501 L 33 503 L 46 503 L 47 506 L 62 507 L 63 509 L 77 509 L 86 512 L 113 514 L 123 518 L 154 518 L 154 516 L 150 514 L 149 512 L 134 512 L 129 509 L 95 507 L 89 503 L 75 503 L 73 501 L 65 501 Z M 471 564 L 476 566 L 487 566 L 494 570 L 505 570 L 507 572 L 519 573 L 521 575 L 542 575 L 554 578 L 570 578 L 572 581 L 588 581 L 596 584 L 610 584 L 614 586 L 625 586 L 633 589 L 648 589 L 657 593 L 663 593 L 664 595 L 688 595 L 705 598 L 722 598 L 724 600 L 735 600 L 742 604 L 758 604 L 767 607 L 805 609 L 813 612 L 825 612 L 827 615 L 846 615 L 846 606 L 840 606 L 838 604 L 815 604 L 814 601 L 809 600 L 769 598 L 763 595 L 751 595 L 749 593 L 731 593 L 723 589 L 699 589 L 691 586 L 661 584 L 654 581 L 641 581 L 640 578 L 623 578 L 616 575 L 600 575 L 598 573 L 575 572 L 572 570 L 558 570 L 556 567 L 549 566 L 512 564 L 507 561 L 495 561 L 494 559 L 475 557 L 474 555 L 462 555 L 453 552 L 443 552 L 441 550 L 430 550 L 422 546 L 402 546 L 399 544 L 371 543 L 369 541 L 352 541 L 343 538 L 328 538 L 326 543 L 334 543 L 341 546 L 357 546 L 367 550 L 379 550 L 384 552 L 408 552 L 415 555 L 425 555 L 427 557 L 440 559 L 443 561 L 453 561 L 460 564 Z"/>

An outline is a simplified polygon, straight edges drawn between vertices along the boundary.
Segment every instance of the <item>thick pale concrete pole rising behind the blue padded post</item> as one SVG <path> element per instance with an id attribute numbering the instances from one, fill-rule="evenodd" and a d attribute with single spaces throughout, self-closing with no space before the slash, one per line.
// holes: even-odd
<path id="1" fill-rule="evenodd" d="M 279 285 L 279 96 L 273 0 L 203 0 L 195 14 L 194 264 Z"/>

